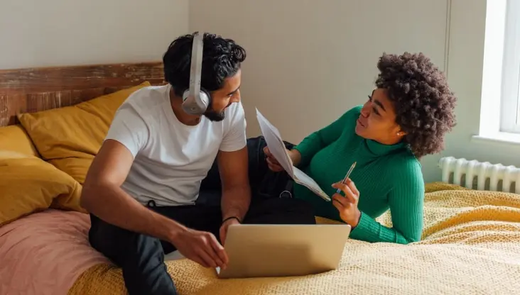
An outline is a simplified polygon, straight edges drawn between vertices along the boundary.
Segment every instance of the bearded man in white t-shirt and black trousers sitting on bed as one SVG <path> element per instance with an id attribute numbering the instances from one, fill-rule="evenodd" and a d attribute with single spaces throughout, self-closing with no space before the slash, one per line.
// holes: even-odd
<path id="1" fill-rule="evenodd" d="M 85 179 L 90 243 L 123 269 L 129 294 L 175 294 L 163 263 L 174 250 L 204 267 L 225 268 L 221 243 L 234 224 L 315 223 L 312 208 L 296 199 L 251 200 L 241 46 L 204 35 L 201 87 L 211 104 L 204 116 L 183 111 L 192 44 L 193 35 L 170 44 L 166 86 L 140 89 L 119 107 Z M 197 205 L 215 159 L 221 206 Z"/>

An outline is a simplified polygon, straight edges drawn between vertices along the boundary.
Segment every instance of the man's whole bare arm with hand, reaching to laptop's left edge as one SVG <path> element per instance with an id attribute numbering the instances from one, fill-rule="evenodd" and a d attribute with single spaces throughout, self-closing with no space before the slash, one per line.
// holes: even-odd
<path id="1" fill-rule="evenodd" d="M 105 140 L 90 166 L 81 205 L 107 223 L 166 240 L 204 267 L 227 267 L 224 247 L 214 235 L 192 230 L 141 205 L 121 189 L 134 160 L 117 140 Z"/>

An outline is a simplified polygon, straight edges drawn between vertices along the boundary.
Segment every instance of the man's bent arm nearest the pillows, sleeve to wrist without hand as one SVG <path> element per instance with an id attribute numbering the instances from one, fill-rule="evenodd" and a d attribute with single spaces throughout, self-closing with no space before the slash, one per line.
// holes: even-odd
<path id="1" fill-rule="evenodd" d="M 116 140 L 106 140 L 83 184 L 81 205 L 114 226 L 173 241 L 185 226 L 154 213 L 121 189 L 134 156 Z"/>

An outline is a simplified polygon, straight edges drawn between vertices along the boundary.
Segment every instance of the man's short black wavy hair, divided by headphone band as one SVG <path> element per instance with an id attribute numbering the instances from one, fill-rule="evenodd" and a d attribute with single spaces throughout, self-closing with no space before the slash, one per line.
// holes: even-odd
<path id="1" fill-rule="evenodd" d="M 197 33 L 197 32 L 195 32 Z M 190 84 L 190 64 L 193 36 L 181 35 L 173 40 L 163 55 L 164 79 L 177 96 Z M 231 39 L 204 33 L 202 39 L 202 68 L 200 86 L 215 91 L 224 86 L 224 79 L 234 76 L 246 59 L 246 50 Z"/>

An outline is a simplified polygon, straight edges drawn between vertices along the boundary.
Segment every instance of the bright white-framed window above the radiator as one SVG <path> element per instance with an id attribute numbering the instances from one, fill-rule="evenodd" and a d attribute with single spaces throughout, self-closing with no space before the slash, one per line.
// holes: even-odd
<path id="1" fill-rule="evenodd" d="M 480 130 L 520 143 L 520 1 L 487 1 Z"/>

